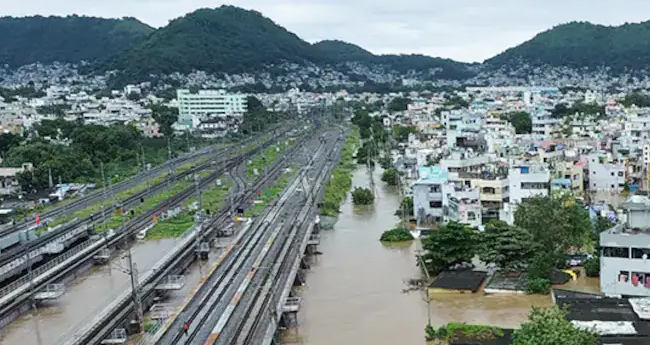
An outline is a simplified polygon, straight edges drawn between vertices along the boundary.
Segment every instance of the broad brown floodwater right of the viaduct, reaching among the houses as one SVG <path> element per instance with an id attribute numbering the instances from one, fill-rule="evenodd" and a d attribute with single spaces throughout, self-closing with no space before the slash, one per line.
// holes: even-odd
<path id="1" fill-rule="evenodd" d="M 293 344 L 425 344 L 426 299 L 420 292 L 403 293 L 405 281 L 418 278 L 415 253 L 419 243 L 390 248 L 379 242 L 393 227 L 399 195 L 384 186 L 375 171 L 375 205 L 342 205 L 333 230 L 323 231 L 306 286 L 299 292 L 302 305 L 297 329 L 284 332 Z M 368 186 L 365 170 L 357 170 L 353 186 Z M 573 282 L 574 288 L 598 291 L 596 280 Z M 550 296 L 447 294 L 433 297 L 431 323 L 491 324 L 517 327 L 531 306 L 551 306 Z"/>

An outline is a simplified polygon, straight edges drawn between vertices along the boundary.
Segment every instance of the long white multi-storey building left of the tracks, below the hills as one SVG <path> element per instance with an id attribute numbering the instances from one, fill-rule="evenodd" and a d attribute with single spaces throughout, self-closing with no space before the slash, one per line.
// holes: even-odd
<path id="1" fill-rule="evenodd" d="M 243 116 L 247 110 L 245 94 L 231 94 L 225 90 L 190 90 L 176 91 L 178 98 L 178 122 L 192 124 L 192 117 L 215 118 L 225 116 Z"/>

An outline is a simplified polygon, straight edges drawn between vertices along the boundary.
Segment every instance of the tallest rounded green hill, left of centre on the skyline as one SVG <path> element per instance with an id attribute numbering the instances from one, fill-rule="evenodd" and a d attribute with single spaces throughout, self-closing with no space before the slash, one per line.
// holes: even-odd
<path id="1" fill-rule="evenodd" d="M 200 9 L 157 30 L 110 64 L 127 75 L 241 72 L 318 60 L 311 45 L 259 12 L 233 6 Z"/>

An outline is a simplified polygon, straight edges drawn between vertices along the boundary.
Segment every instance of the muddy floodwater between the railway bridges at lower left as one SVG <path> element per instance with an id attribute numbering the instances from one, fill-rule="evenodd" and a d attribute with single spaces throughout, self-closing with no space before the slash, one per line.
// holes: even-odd
<path id="1" fill-rule="evenodd" d="M 177 239 L 138 242 L 132 248 L 140 275 L 151 269 Z M 95 266 L 66 287 L 58 300 L 39 306 L 38 314 L 28 312 L 3 329 L 3 345 L 53 345 L 67 339 L 77 327 L 92 320 L 110 301 L 130 288 L 128 267 L 121 255 L 113 255 L 110 265 Z"/>

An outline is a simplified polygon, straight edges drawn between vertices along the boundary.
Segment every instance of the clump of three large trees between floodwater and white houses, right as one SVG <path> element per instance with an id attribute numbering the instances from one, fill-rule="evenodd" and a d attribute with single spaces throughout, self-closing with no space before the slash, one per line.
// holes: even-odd
<path id="1" fill-rule="evenodd" d="M 503 271 L 524 272 L 530 293 L 548 293 L 551 273 L 565 267 L 566 253 L 593 248 L 599 231 L 611 226 L 603 220 L 592 226 L 589 213 L 568 198 L 531 198 L 514 216 L 514 226 L 492 221 L 483 233 L 454 222 L 440 227 L 422 240 L 427 270 L 437 274 L 477 254 Z"/>

